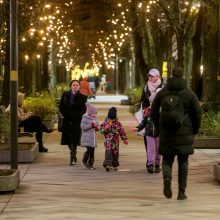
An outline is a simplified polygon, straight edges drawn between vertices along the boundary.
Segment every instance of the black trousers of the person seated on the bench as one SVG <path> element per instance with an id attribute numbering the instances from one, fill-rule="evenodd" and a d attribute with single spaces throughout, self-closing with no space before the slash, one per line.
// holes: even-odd
<path id="1" fill-rule="evenodd" d="M 31 116 L 30 118 L 21 121 L 18 125 L 19 127 L 24 127 L 26 132 L 36 132 L 36 141 L 39 143 L 39 146 L 43 144 L 43 130 L 44 126 L 40 117 Z"/>

